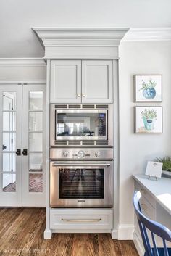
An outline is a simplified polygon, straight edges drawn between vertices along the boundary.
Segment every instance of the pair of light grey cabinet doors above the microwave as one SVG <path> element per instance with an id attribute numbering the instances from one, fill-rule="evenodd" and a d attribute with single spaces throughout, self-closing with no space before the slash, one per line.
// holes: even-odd
<path id="1" fill-rule="evenodd" d="M 112 103 L 112 60 L 51 60 L 51 103 Z"/>

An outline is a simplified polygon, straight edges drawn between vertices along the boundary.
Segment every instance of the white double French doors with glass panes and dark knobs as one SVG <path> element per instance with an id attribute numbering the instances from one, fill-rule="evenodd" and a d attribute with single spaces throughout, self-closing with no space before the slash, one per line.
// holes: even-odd
<path id="1" fill-rule="evenodd" d="M 0 84 L 0 206 L 45 206 L 43 84 Z"/>

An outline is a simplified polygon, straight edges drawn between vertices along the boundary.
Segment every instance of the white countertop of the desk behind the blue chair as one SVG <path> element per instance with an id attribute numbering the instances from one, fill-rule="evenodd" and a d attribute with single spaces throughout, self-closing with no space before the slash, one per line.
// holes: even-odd
<path id="1" fill-rule="evenodd" d="M 171 215 L 171 178 L 148 179 L 143 174 L 133 175 L 135 181 L 141 184 Z"/>

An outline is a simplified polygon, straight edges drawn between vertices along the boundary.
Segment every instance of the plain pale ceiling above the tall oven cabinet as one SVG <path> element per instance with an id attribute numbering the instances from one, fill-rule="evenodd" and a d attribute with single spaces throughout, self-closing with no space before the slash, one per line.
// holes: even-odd
<path id="1" fill-rule="evenodd" d="M 32 27 L 171 27 L 171 1 L 1 0 L 0 57 L 43 57 Z"/>

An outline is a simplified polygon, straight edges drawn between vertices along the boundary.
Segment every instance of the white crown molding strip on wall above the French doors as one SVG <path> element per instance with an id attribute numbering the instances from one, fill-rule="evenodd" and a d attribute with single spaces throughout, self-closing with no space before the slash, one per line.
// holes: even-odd
<path id="1" fill-rule="evenodd" d="M 43 67 L 43 58 L 0 58 L 0 66 Z"/>

